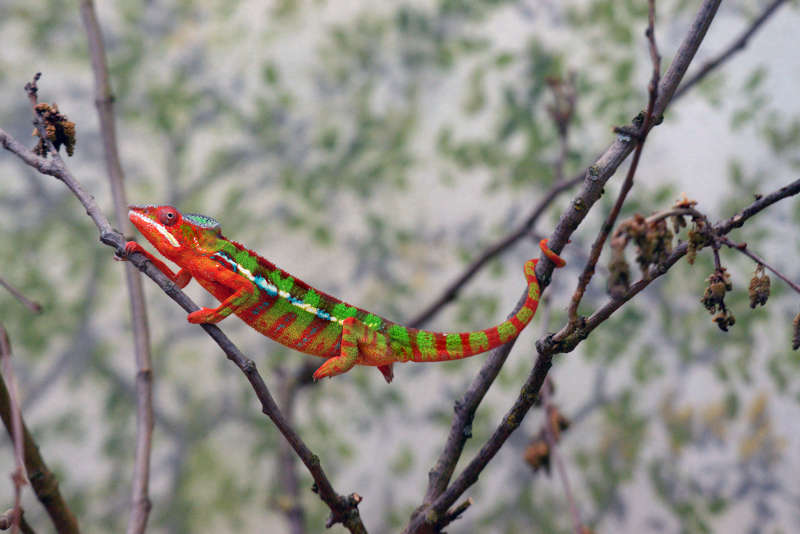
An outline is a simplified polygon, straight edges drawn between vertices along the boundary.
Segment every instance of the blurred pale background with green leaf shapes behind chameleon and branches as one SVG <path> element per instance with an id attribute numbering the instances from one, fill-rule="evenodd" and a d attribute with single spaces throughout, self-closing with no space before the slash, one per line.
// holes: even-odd
<path id="1" fill-rule="evenodd" d="M 666 68 L 699 2 L 657 3 Z M 766 2 L 724 2 L 690 73 Z M 787 2 L 728 63 L 674 102 L 648 138 L 623 216 L 668 208 L 685 192 L 712 220 L 798 177 L 797 2 Z M 99 2 L 118 137 L 132 203 L 217 218 L 226 236 L 312 285 L 403 321 L 498 238 L 556 179 L 559 143 L 548 79 L 574 75 L 564 174 L 593 162 L 647 102 L 647 2 L 150 0 Z M 0 4 L 0 127 L 33 146 L 23 85 L 77 125 L 75 176 L 112 218 L 77 3 Z M 464 458 L 494 430 L 559 329 L 577 273 L 616 198 L 621 172 L 573 236 L 547 291 L 478 411 Z M 124 528 L 135 443 L 135 368 L 122 265 L 65 187 L 0 155 L 0 276 L 40 302 L 0 292 L 23 415 L 85 532 Z M 549 235 L 570 201 L 539 219 Z M 800 204 L 789 199 L 732 234 L 800 279 Z M 685 234 L 682 235 L 685 239 Z M 141 241 L 141 240 L 140 240 Z M 425 324 L 485 328 L 523 288 L 524 239 Z M 632 255 L 629 257 L 633 263 Z M 607 255 L 581 313 L 605 301 Z M 560 451 L 583 520 L 596 532 L 793 532 L 800 522 L 800 299 L 777 279 L 750 310 L 754 264 L 723 255 L 736 324 L 721 332 L 699 302 L 710 253 L 681 262 L 621 309 L 551 376 L 572 421 Z M 638 270 L 634 266 L 634 276 Z M 154 365 L 151 532 L 282 532 L 295 504 L 281 482 L 282 437 L 240 372 L 145 280 Z M 201 306 L 213 299 L 187 288 Z M 220 324 L 279 393 L 311 356 L 235 319 Z M 419 505 L 453 402 L 485 357 L 398 365 L 302 387 L 294 423 L 342 493 L 356 491 L 370 532 L 396 532 Z M 280 396 L 280 395 L 279 395 Z M 534 409 L 467 495 L 449 532 L 569 532 L 556 477 L 524 451 Z M 0 473 L 13 456 L 0 439 Z M 308 532 L 327 508 L 299 469 Z M 0 502 L 13 488 L 0 481 Z M 30 490 L 26 516 L 48 525 Z M 332 532 L 344 532 L 336 526 Z"/>

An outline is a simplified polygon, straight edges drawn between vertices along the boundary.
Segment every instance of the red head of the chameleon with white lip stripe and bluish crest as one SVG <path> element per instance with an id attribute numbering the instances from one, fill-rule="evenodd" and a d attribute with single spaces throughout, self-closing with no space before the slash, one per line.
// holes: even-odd
<path id="1" fill-rule="evenodd" d="M 219 234 L 219 223 L 211 217 L 184 215 L 172 206 L 128 206 L 128 218 L 161 254 L 170 259 Z"/>

